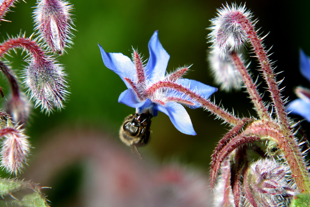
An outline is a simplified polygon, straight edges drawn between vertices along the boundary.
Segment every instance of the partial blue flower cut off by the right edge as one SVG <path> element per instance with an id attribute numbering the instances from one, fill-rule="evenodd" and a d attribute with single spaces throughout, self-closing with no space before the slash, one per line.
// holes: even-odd
<path id="1" fill-rule="evenodd" d="M 299 61 L 301 74 L 310 81 L 310 57 L 300 50 Z M 299 98 L 288 104 L 287 111 L 292 111 L 291 114 L 300 115 L 310 122 L 310 90 L 297 87 L 295 93 Z"/>

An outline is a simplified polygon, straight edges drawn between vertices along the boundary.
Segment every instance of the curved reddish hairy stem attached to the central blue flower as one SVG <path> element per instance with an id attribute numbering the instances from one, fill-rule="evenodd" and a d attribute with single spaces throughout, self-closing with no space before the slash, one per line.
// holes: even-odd
<path id="1" fill-rule="evenodd" d="M 191 91 L 188 88 L 185 88 L 182 85 L 179 85 L 177 83 L 172 83 L 170 81 L 159 81 L 155 84 L 153 84 L 151 87 L 149 87 L 146 92 L 149 96 L 152 96 L 152 94 L 163 88 L 170 88 L 179 92 L 184 93 L 185 95 L 189 96 L 196 102 L 200 103 L 203 108 L 210 111 L 211 113 L 217 115 L 219 118 L 223 119 L 225 122 L 235 126 L 238 123 L 240 123 L 240 119 L 236 116 L 230 114 L 226 110 L 222 109 L 221 107 L 217 106 L 216 104 L 210 102 L 209 100 L 201 97 L 199 94 Z"/>

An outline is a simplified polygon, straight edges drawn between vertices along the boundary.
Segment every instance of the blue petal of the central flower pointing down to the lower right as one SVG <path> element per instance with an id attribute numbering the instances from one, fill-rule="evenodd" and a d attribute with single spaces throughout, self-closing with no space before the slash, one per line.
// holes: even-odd
<path id="1" fill-rule="evenodd" d="M 189 135 L 196 135 L 192 121 L 185 108 L 175 102 L 168 102 L 165 106 L 157 105 L 158 110 L 169 116 L 172 124 L 180 132 Z"/>

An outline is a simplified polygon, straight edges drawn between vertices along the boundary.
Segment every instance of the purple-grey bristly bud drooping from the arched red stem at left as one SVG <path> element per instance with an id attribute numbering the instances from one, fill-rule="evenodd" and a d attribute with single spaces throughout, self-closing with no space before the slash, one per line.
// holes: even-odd
<path id="1" fill-rule="evenodd" d="M 32 58 L 29 61 L 24 83 L 29 87 L 31 98 L 35 100 L 35 107 L 41 106 L 47 113 L 54 106 L 59 110 L 64 107 L 63 101 L 68 94 L 64 76 L 63 68 L 52 58 Z"/>

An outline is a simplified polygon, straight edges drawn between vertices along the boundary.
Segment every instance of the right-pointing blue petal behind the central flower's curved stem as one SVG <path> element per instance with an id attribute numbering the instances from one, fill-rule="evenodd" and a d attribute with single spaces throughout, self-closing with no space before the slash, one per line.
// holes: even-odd
<path id="1" fill-rule="evenodd" d="M 191 91 L 198 93 L 200 96 L 202 96 L 205 99 L 208 99 L 214 92 L 217 91 L 217 88 L 206 85 L 204 83 L 201 83 L 197 80 L 191 80 L 191 79 L 178 79 L 177 83 L 181 84 L 182 86 L 189 88 Z M 197 103 L 195 106 L 189 106 L 192 109 L 196 109 L 200 107 L 201 105 Z"/>

